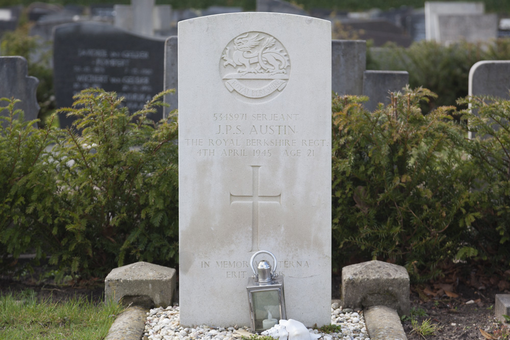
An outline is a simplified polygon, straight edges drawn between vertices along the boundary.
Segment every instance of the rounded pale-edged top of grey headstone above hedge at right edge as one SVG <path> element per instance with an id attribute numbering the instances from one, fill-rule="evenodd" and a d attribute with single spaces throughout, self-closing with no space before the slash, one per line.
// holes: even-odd
<path id="1" fill-rule="evenodd" d="M 483 60 L 469 70 L 468 94 L 508 98 L 510 60 Z"/>

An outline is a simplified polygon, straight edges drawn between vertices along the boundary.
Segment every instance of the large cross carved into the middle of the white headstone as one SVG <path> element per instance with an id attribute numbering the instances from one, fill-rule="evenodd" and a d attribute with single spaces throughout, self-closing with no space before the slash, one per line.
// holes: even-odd
<path id="1" fill-rule="evenodd" d="M 250 165 L 252 173 L 252 191 L 251 196 L 230 194 L 230 204 L 236 202 L 251 203 L 251 250 L 259 251 L 259 203 L 278 203 L 281 204 L 282 193 L 274 196 L 259 195 L 259 169 L 260 165 Z"/>

